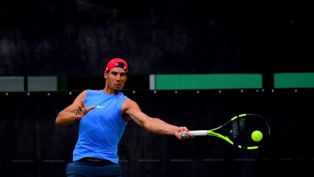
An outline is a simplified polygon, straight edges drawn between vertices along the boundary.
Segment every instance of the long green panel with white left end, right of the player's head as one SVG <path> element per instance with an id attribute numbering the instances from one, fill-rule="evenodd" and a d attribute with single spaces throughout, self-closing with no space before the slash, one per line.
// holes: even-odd
<path id="1" fill-rule="evenodd" d="M 260 74 L 155 75 L 156 90 L 262 88 Z"/>

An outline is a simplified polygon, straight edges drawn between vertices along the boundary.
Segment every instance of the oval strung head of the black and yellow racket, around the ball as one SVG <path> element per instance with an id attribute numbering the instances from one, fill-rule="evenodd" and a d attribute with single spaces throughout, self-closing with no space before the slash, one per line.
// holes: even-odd
<path id="1" fill-rule="evenodd" d="M 270 128 L 266 119 L 257 114 L 235 116 L 222 127 L 224 127 L 224 135 L 233 142 L 233 145 L 244 149 L 259 148 L 267 141 L 270 135 Z M 256 130 L 262 134 L 262 138 L 259 141 L 255 141 L 252 138 L 252 133 Z"/>

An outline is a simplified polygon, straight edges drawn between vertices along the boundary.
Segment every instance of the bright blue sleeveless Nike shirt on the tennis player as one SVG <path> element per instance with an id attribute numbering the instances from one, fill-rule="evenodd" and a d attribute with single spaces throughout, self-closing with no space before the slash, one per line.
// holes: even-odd
<path id="1" fill-rule="evenodd" d="M 117 147 L 128 122 L 121 115 L 127 97 L 119 92 L 109 95 L 103 90 L 87 90 L 86 108 L 96 106 L 80 120 L 73 161 L 94 157 L 118 163 Z"/>

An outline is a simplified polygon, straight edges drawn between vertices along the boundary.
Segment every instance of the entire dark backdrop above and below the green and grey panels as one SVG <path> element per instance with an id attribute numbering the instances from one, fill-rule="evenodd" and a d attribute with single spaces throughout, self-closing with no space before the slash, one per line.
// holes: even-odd
<path id="1" fill-rule="evenodd" d="M 129 61 L 130 74 L 146 83 L 148 74 L 314 72 L 310 7 L 297 1 L 1 1 L 0 76 L 100 77 L 113 57 Z M 119 147 L 123 172 L 305 176 L 314 165 L 312 91 L 126 91 L 148 115 L 191 130 L 261 114 L 271 139 L 248 152 L 214 137 L 155 135 L 130 121 Z M 0 176 L 65 176 L 77 124 L 54 122 L 77 94 L 0 92 Z"/>

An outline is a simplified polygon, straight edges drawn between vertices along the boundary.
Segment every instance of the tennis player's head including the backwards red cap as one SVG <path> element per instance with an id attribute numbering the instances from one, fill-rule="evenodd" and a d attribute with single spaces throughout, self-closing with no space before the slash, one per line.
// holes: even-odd
<path id="1" fill-rule="evenodd" d="M 105 92 L 116 94 L 120 92 L 128 78 L 128 64 L 121 58 L 111 59 L 104 71 L 106 79 Z"/>

